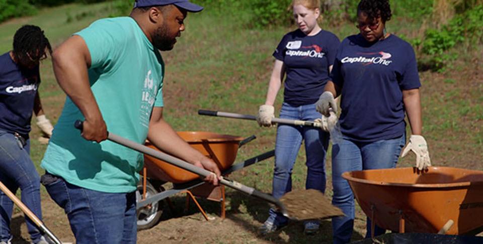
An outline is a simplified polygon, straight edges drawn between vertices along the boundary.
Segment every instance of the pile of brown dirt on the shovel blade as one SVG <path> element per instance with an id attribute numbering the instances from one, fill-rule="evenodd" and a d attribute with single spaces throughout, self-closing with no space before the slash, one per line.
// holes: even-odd
<path id="1" fill-rule="evenodd" d="M 324 194 L 314 189 L 288 192 L 280 198 L 280 201 L 285 205 L 288 215 L 298 220 L 344 215 L 342 210 L 332 205 Z"/>

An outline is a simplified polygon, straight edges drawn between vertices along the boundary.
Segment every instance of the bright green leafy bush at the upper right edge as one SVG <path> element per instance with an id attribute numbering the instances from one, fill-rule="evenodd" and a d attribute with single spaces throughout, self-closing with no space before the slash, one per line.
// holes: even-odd
<path id="1" fill-rule="evenodd" d="M 422 52 L 432 55 L 431 62 L 439 70 L 452 58 L 447 51 L 459 43 L 483 43 L 483 5 L 455 16 L 441 30 L 428 29 Z"/>

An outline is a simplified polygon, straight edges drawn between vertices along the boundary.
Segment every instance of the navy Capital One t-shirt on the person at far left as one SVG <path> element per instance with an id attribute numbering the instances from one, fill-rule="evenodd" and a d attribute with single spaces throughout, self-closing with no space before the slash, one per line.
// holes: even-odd
<path id="1" fill-rule="evenodd" d="M 39 66 L 21 69 L 9 52 L 0 56 L 0 130 L 28 138 L 39 84 Z"/>

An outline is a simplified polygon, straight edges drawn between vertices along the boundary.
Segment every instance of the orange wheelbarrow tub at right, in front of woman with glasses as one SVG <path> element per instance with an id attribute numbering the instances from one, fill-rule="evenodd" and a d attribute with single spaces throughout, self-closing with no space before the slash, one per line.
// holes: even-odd
<path id="1" fill-rule="evenodd" d="M 342 177 L 373 225 L 399 233 L 446 234 L 476 234 L 483 226 L 483 171 L 396 168 Z"/>

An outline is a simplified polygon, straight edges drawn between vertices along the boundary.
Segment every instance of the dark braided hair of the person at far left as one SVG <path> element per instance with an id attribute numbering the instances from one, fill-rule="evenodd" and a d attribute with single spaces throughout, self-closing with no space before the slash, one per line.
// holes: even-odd
<path id="1" fill-rule="evenodd" d="M 45 54 L 45 49 L 52 53 L 49 39 L 45 37 L 44 31 L 38 26 L 25 25 L 15 32 L 13 53 L 19 61 L 27 59 L 40 59 Z"/>

